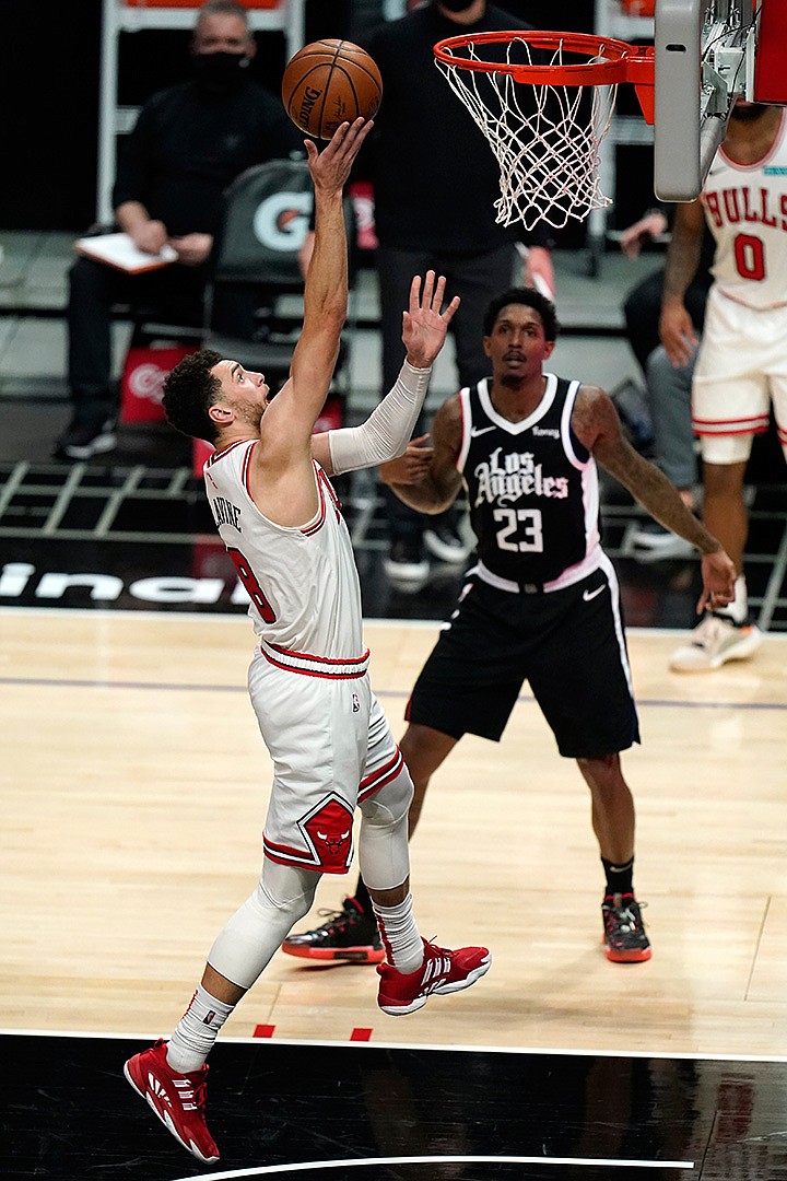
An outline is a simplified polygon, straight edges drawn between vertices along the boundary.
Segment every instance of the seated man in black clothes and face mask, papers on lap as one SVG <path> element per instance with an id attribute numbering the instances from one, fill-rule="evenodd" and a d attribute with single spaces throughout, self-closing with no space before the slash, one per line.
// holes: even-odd
<path id="1" fill-rule="evenodd" d="M 304 155 L 303 138 L 278 98 L 249 77 L 255 51 L 243 5 L 206 0 L 191 41 L 192 78 L 153 94 L 124 142 L 112 190 L 113 228 L 153 254 L 169 243 L 178 257 L 136 275 L 87 257 L 71 267 L 72 417 L 55 458 L 88 459 L 116 445 L 112 305 L 151 305 L 171 309 L 178 322 L 201 324 L 224 189 L 254 164 Z"/>

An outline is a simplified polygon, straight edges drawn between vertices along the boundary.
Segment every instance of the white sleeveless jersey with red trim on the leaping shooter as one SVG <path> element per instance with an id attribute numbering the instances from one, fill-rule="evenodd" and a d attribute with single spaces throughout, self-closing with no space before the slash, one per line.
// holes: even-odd
<path id="1" fill-rule="evenodd" d="M 249 494 L 249 464 L 260 445 L 234 443 L 204 469 L 218 533 L 251 600 L 255 632 L 287 652 L 356 660 L 366 651 L 361 592 L 336 494 L 315 462 L 314 518 L 291 527 L 269 521 Z"/>

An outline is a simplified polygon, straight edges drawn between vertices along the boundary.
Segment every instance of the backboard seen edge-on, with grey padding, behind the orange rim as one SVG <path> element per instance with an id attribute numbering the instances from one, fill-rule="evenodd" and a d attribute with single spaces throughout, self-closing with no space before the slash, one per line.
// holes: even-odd
<path id="1" fill-rule="evenodd" d="M 737 98 L 787 104 L 785 0 L 656 0 L 654 189 L 700 195 Z"/>

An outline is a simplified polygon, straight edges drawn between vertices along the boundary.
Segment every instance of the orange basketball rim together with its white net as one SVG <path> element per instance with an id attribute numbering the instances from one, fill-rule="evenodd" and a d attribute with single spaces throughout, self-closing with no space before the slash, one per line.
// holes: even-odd
<path id="1" fill-rule="evenodd" d="M 584 221 L 610 197 L 599 187 L 599 148 L 617 86 L 632 83 L 648 123 L 652 46 L 586 33 L 494 32 L 434 46 L 438 68 L 490 142 L 500 165 L 497 221 Z"/>

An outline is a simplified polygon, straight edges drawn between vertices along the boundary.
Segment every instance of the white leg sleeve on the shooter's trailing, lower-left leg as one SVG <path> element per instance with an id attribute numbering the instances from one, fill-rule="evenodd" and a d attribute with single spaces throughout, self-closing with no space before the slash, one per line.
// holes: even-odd
<path id="1" fill-rule="evenodd" d="M 241 988 L 250 988 L 293 926 L 308 913 L 320 874 L 273 861 L 210 950 L 208 963 Z"/>

